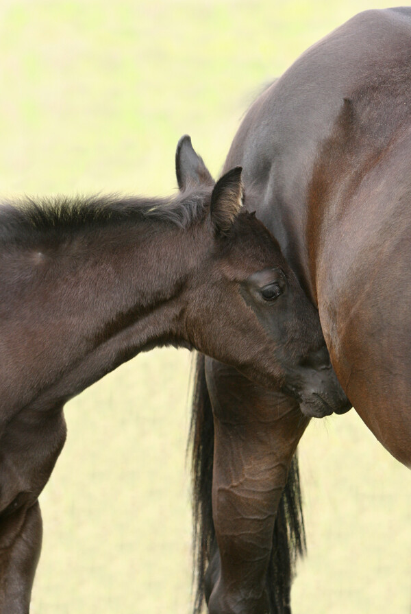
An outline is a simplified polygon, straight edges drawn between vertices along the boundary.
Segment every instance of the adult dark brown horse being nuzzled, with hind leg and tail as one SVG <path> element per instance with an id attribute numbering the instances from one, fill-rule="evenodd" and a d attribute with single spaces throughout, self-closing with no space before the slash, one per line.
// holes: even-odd
<path id="1" fill-rule="evenodd" d="M 411 9 L 365 12 L 308 49 L 249 109 L 234 165 L 319 309 L 347 397 L 411 467 Z M 307 423 L 295 399 L 199 359 L 197 611 L 205 592 L 212 614 L 290 612 Z"/>

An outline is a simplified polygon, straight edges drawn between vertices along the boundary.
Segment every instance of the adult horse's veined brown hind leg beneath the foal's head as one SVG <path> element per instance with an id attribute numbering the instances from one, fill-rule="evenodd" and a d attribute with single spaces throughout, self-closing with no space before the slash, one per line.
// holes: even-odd
<path id="1" fill-rule="evenodd" d="M 218 544 L 206 579 L 208 608 L 210 614 L 265 614 L 275 515 L 308 419 L 289 397 L 212 359 L 206 359 L 206 378 L 214 414 Z"/>

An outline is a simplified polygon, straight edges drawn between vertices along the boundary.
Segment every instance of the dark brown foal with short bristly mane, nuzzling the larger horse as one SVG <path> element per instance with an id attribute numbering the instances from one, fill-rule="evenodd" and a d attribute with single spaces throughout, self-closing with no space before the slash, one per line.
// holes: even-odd
<path id="1" fill-rule="evenodd" d="M 214 185 L 189 137 L 176 169 L 175 198 L 0 209 L 1 614 L 29 611 L 64 403 L 138 352 L 198 349 L 314 414 L 347 403 L 316 310 L 242 206 L 241 169 Z"/>

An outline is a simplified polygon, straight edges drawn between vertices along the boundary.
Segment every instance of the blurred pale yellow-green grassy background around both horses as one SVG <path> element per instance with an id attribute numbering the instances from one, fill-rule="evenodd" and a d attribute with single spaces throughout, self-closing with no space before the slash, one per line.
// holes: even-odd
<path id="1" fill-rule="evenodd" d="M 188 132 L 218 174 L 264 82 L 378 0 L 2 0 L 0 191 L 170 193 Z M 71 401 L 41 497 L 34 614 L 186 614 L 189 356 L 137 357 Z M 354 412 L 301 443 L 309 555 L 293 612 L 408 613 L 411 480 Z"/>

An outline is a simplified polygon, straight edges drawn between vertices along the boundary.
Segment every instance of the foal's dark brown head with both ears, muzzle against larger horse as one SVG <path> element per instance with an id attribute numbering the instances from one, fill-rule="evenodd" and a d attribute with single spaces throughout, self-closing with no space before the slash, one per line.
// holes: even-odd
<path id="1" fill-rule="evenodd" d="M 190 137 L 183 137 L 176 171 L 182 197 L 200 192 L 209 203 L 208 215 L 192 228 L 199 259 L 186 289 L 186 338 L 247 377 L 297 397 L 310 416 L 346 410 L 316 309 L 275 238 L 243 206 L 241 168 L 214 184 Z"/>

